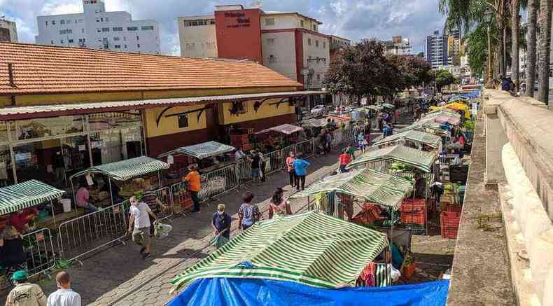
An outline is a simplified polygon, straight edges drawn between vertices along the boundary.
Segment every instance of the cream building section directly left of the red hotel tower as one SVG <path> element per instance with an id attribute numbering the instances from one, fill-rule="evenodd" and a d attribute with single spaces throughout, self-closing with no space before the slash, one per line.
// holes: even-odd
<path id="1" fill-rule="evenodd" d="M 217 57 L 215 16 L 179 17 L 181 56 Z"/>

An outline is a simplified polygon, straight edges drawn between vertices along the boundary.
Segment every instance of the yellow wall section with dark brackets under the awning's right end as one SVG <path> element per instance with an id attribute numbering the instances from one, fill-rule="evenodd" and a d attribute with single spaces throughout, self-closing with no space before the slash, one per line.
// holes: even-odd
<path id="1" fill-rule="evenodd" d="M 219 124 L 220 125 L 230 125 L 235 123 L 242 123 L 245 121 L 259 120 L 263 118 L 269 118 L 274 116 L 282 116 L 290 113 L 295 113 L 294 106 L 290 106 L 288 102 L 282 102 L 279 105 L 279 108 L 276 108 L 276 104 L 269 105 L 272 103 L 279 102 L 281 99 L 269 99 L 258 109 L 257 112 L 253 109 L 254 100 L 247 101 L 247 111 L 246 113 L 239 113 L 237 115 L 232 115 L 230 109 L 232 108 L 232 103 L 221 103 L 218 105 L 218 114 L 219 114 Z"/>

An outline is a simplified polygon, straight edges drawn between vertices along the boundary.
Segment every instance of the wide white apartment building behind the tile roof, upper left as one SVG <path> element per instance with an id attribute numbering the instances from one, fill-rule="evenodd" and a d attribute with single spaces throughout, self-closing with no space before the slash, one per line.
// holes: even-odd
<path id="1" fill-rule="evenodd" d="M 158 22 L 106 12 L 103 0 L 83 0 L 78 14 L 38 16 L 36 43 L 121 52 L 160 54 Z"/>

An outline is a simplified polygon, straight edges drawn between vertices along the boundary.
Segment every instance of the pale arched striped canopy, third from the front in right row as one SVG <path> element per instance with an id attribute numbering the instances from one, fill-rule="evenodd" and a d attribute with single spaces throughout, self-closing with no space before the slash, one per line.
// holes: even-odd
<path id="1" fill-rule="evenodd" d="M 396 145 L 368 151 L 356 160 L 353 160 L 353 162 L 350 162 L 347 168 L 351 169 L 353 167 L 363 166 L 378 160 L 393 160 L 429 173 L 432 172 L 435 158 L 435 153 L 409 148 L 408 146 Z"/>

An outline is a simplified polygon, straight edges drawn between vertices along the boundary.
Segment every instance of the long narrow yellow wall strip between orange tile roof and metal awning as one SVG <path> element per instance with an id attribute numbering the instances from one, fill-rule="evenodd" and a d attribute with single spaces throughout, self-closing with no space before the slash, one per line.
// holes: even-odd
<path id="1" fill-rule="evenodd" d="M 151 90 L 151 91 L 129 91 L 129 92 L 87 92 L 71 94 L 49 94 L 49 95 L 16 95 L 17 106 L 34 106 L 48 104 L 71 104 L 81 102 L 109 102 L 140 99 L 165 99 L 183 97 L 202 97 L 214 95 L 238 95 L 261 92 L 288 92 L 295 91 L 295 87 L 274 87 L 274 88 L 217 88 L 199 90 Z M 11 106 L 11 98 L 0 96 L 0 106 Z"/>

